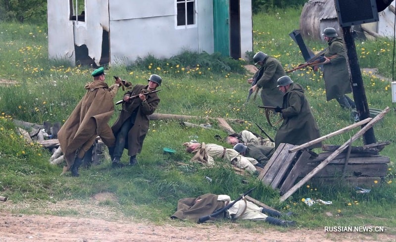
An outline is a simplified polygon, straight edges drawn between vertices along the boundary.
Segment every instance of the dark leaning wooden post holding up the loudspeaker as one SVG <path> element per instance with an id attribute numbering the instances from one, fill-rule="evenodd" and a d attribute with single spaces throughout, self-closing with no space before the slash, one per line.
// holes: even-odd
<path id="1" fill-rule="evenodd" d="M 359 62 L 357 60 L 355 42 L 350 33 L 350 26 L 342 28 L 344 46 L 347 51 L 347 63 L 349 70 L 350 84 L 352 86 L 353 99 L 356 104 L 356 112 L 360 120 L 370 117 L 366 93 L 364 91 L 363 78 L 360 72 Z M 362 127 L 363 128 L 363 127 Z M 375 143 L 374 129 L 371 128 L 363 135 L 365 145 Z"/>

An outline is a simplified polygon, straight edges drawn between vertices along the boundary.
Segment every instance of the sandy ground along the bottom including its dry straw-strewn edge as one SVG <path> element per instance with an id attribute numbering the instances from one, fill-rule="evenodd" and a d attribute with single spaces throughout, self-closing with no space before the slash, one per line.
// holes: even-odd
<path id="1" fill-rule="evenodd" d="M 87 201 L 0 202 L 0 242 L 396 242 L 392 230 L 382 233 L 326 232 L 301 228 L 263 226 L 247 229 L 238 221 L 229 223 L 192 224 L 171 220 L 161 225 L 126 217 L 114 206 L 111 193 L 95 194 Z M 73 204 L 70 208 L 70 204 Z M 76 216 L 28 215 L 62 214 L 74 211 Z M 257 222 L 260 223 L 260 222 Z M 265 222 L 263 222 L 265 223 Z"/>

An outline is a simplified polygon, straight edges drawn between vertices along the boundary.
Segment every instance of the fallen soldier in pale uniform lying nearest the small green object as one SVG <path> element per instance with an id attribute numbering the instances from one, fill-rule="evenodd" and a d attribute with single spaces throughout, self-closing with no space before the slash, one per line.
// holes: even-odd
<path id="1" fill-rule="evenodd" d="M 186 146 L 186 151 L 189 153 L 196 153 L 191 161 L 198 161 L 203 164 L 213 165 L 213 157 L 223 158 L 238 168 L 245 169 L 248 172 L 256 172 L 255 165 L 259 164 L 257 160 L 245 157 L 238 153 L 235 149 L 225 148 L 216 144 L 192 143 L 187 142 L 183 144 Z"/>

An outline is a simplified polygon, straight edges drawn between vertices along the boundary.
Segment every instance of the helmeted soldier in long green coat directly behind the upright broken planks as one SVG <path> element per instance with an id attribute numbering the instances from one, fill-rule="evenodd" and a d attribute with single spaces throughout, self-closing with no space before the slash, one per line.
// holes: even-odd
<path id="1" fill-rule="evenodd" d="M 313 117 L 303 88 L 294 83 L 289 76 L 278 79 L 279 89 L 284 93 L 282 108 L 275 112 L 282 113 L 283 123 L 275 136 L 275 147 L 281 143 L 302 145 L 320 137 L 319 128 Z M 309 148 L 320 147 L 321 143 Z"/>

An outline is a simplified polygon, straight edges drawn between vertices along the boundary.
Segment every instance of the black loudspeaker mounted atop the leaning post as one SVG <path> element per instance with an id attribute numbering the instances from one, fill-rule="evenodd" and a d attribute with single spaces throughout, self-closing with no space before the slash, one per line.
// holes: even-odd
<path id="1" fill-rule="evenodd" d="M 336 10 L 341 27 L 379 20 L 376 0 L 336 0 Z"/>

